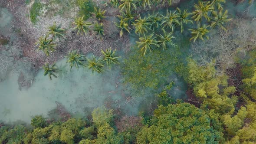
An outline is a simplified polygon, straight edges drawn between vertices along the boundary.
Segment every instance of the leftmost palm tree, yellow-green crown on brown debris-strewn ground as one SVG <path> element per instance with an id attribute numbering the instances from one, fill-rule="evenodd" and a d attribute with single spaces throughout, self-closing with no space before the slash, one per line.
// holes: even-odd
<path id="1" fill-rule="evenodd" d="M 43 52 L 47 56 L 49 56 L 49 53 L 56 51 L 56 49 L 54 48 L 55 44 L 52 43 L 53 39 L 47 39 L 47 38 L 48 38 L 48 35 L 46 35 L 44 38 L 43 36 L 40 36 L 39 41 L 36 42 L 36 45 L 40 50 L 43 50 Z"/>

